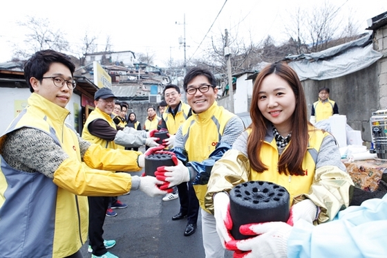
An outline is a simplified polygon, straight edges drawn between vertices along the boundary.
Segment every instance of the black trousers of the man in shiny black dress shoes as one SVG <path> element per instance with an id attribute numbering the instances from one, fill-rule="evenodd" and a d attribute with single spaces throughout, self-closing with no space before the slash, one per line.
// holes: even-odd
<path id="1" fill-rule="evenodd" d="M 178 195 L 180 212 L 182 214 L 187 214 L 188 224 L 196 224 L 198 222 L 200 206 L 192 183 L 181 183 L 178 185 Z"/>

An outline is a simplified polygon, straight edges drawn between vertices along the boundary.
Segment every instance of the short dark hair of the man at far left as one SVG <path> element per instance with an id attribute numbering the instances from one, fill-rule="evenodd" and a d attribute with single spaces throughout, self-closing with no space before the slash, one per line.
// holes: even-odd
<path id="1" fill-rule="evenodd" d="M 41 80 L 43 80 L 43 75 L 50 70 L 50 65 L 55 62 L 67 66 L 71 72 L 71 76 L 73 76 L 75 65 L 71 61 L 71 58 L 64 53 L 59 53 L 51 49 L 40 50 L 27 60 L 24 64 L 24 78 L 26 79 L 31 92 L 34 92 L 34 89 L 30 84 L 30 78 L 35 77 L 41 82 Z"/>

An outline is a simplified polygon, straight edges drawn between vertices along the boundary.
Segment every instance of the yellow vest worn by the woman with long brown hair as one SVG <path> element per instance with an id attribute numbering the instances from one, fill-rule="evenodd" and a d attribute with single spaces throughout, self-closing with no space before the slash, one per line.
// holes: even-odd
<path id="1" fill-rule="evenodd" d="M 251 133 L 251 129 L 248 129 L 247 132 Z M 263 173 L 258 173 L 254 169 L 251 169 L 249 181 L 268 181 L 285 187 L 290 194 L 290 205 L 292 205 L 294 196 L 308 194 L 310 191 L 316 169 L 317 154 L 319 153 L 323 138 L 328 134 L 320 129 L 309 127 L 308 151 L 306 151 L 302 163 L 305 176 L 279 174 L 277 171 L 279 152 L 276 147 L 276 140 L 275 138 L 265 139 L 259 156 L 268 169 Z M 270 140 L 270 142 L 266 140 Z"/>

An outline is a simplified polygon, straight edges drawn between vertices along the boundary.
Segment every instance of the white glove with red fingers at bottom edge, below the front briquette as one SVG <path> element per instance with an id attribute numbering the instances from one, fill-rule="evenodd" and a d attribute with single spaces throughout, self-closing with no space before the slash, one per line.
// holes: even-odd
<path id="1" fill-rule="evenodd" d="M 227 244 L 235 250 L 234 258 L 286 258 L 287 239 L 292 226 L 285 222 L 266 222 L 241 225 L 242 234 L 256 236 L 234 240 Z"/>

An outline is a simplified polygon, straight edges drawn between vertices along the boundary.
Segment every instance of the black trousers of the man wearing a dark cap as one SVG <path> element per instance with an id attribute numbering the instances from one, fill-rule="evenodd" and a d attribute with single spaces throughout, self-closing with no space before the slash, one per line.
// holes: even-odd
<path id="1" fill-rule="evenodd" d="M 104 246 L 104 222 L 111 197 L 88 196 L 88 243 L 93 255 L 102 256 L 107 250 Z"/>

